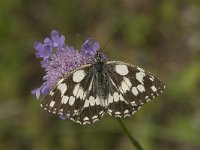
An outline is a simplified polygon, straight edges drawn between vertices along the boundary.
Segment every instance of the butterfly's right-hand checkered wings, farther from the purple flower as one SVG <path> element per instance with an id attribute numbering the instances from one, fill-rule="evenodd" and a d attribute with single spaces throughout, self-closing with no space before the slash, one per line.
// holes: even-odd
<path id="1" fill-rule="evenodd" d="M 112 87 L 107 99 L 107 111 L 114 117 L 133 115 L 165 89 L 158 78 L 140 67 L 120 61 L 107 62 L 107 67 Z"/>

